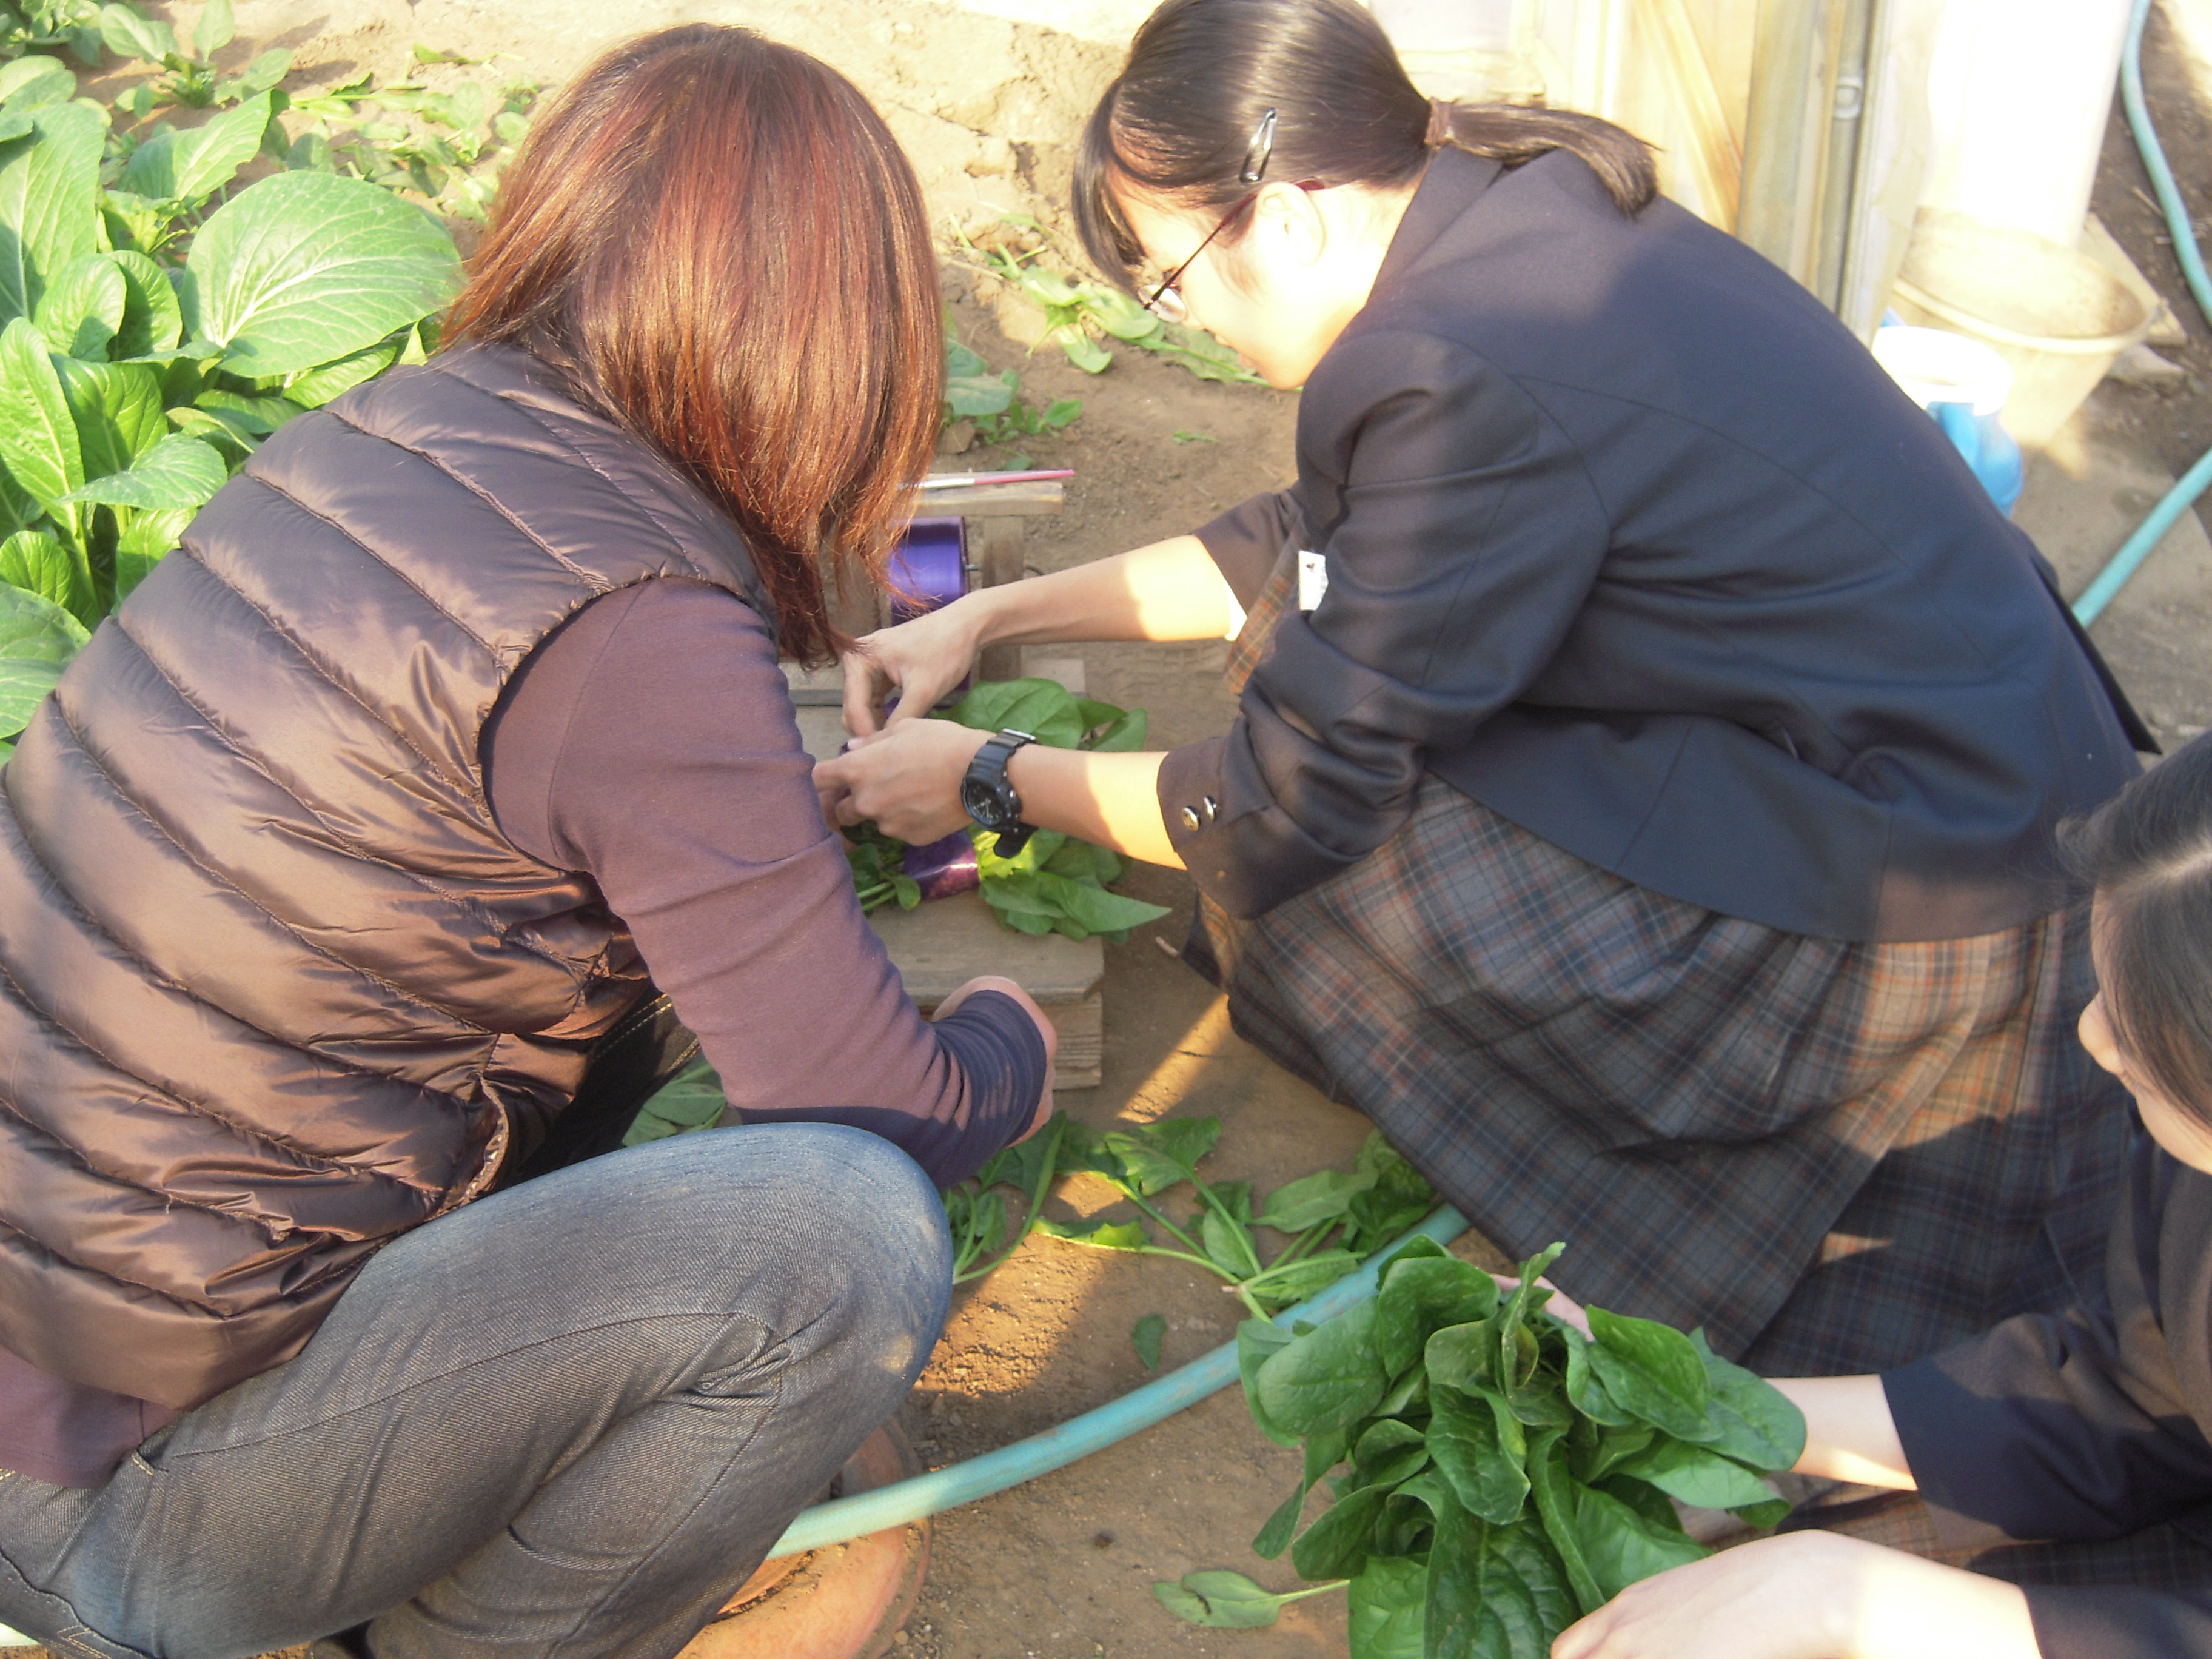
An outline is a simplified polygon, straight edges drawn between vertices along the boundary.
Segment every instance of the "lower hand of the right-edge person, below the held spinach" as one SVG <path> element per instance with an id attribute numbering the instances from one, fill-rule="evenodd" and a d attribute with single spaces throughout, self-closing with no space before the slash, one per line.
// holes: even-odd
<path id="1" fill-rule="evenodd" d="M 1785 1533 L 1630 1584 L 1551 1659 L 2037 1659 L 2015 1584 Z"/>

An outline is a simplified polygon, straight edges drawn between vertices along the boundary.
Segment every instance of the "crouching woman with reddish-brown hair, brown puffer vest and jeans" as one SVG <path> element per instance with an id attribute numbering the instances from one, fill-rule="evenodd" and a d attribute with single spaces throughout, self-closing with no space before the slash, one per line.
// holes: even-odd
<path id="1" fill-rule="evenodd" d="M 916 1015 L 776 659 L 880 586 L 940 363 L 867 102 L 648 35 L 447 349 L 69 668 L 0 774 L 0 1624 L 672 1655 L 898 1405 L 1053 1031 Z M 741 1124 L 613 1150 L 701 1048 Z"/>

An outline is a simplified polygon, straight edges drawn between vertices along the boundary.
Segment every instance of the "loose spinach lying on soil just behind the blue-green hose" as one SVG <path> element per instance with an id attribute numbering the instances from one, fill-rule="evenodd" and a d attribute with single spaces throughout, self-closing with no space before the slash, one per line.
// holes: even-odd
<path id="1" fill-rule="evenodd" d="M 1305 1301 L 1402 1234 L 1436 1203 L 1420 1172 L 1380 1135 L 1369 1135 L 1352 1170 L 1321 1170 L 1254 1201 L 1250 1181 L 1208 1181 L 1199 1161 L 1221 1139 L 1219 1117 L 1164 1117 L 1157 1124 L 1095 1135 L 1068 1124 L 1060 1168 L 1108 1181 L 1144 1221 L 1040 1221 L 1051 1239 L 1091 1250 L 1172 1256 L 1225 1281 L 1254 1318 Z M 1188 1186 L 1197 1210 L 1175 1221 L 1161 1199 Z M 1272 1261 L 1261 1261 L 1259 1228 L 1290 1234 Z"/>

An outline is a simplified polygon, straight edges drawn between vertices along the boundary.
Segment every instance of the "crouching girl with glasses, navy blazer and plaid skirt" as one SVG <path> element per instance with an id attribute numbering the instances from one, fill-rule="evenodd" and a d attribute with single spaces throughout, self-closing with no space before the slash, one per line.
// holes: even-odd
<path id="1" fill-rule="evenodd" d="M 1161 7 L 1075 210 L 1305 387 L 1298 480 L 867 639 L 832 807 L 1188 867 L 1237 1029 L 1575 1296 L 1770 1371 L 2062 1296 L 2124 1124 L 2051 830 L 2148 739 L 1933 422 L 1641 142 L 1431 104 L 1343 0 Z M 1172 754 L 911 719 L 991 641 L 1223 633 Z"/>

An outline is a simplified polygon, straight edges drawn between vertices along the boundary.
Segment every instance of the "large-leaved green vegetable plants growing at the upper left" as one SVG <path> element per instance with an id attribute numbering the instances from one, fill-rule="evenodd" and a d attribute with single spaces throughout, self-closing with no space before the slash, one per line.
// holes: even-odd
<path id="1" fill-rule="evenodd" d="M 387 190 L 321 170 L 234 188 L 283 131 L 283 95 L 248 86 L 283 64 L 190 80 L 228 40 L 226 7 L 192 55 L 131 7 L 86 18 L 111 49 L 159 51 L 164 97 L 228 108 L 119 135 L 58 58 L 0 62 L 0 757 L 230 467 L 420 361 L 460 279 L 451 234 Z M 93 22 L 35 27 L 82 53 Z M 11 38 L 38 33 L 18 13 Z"/>

